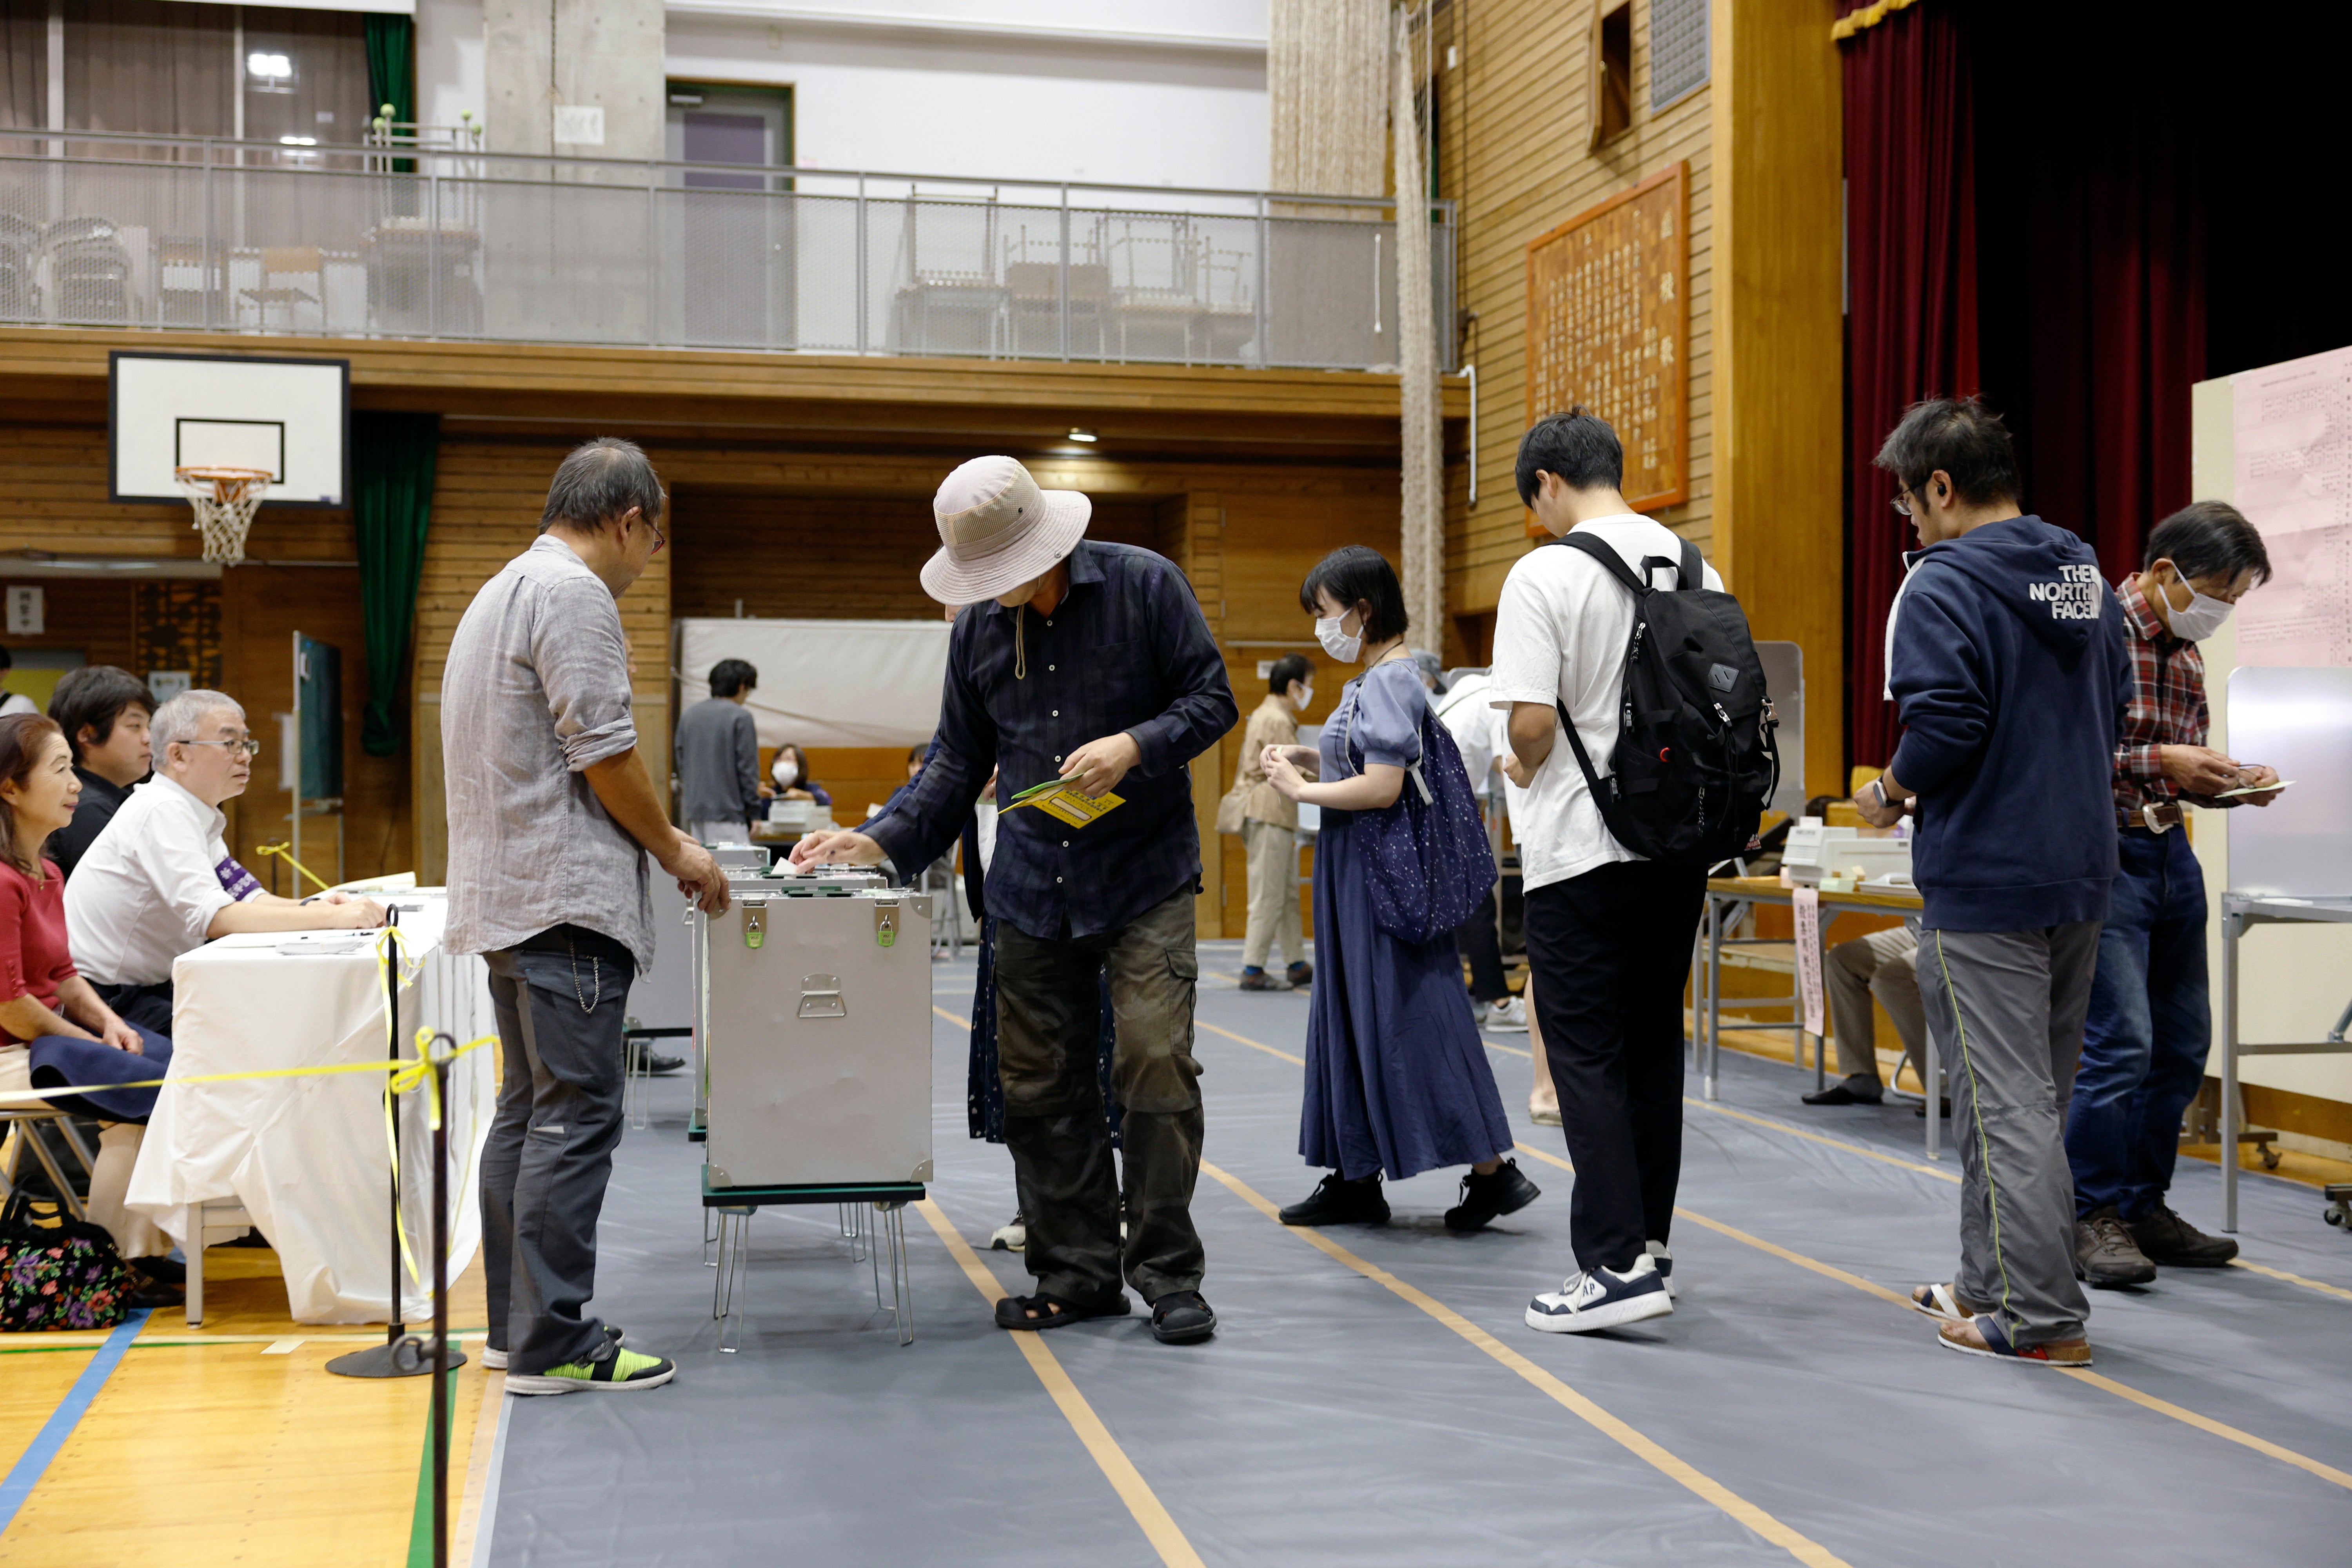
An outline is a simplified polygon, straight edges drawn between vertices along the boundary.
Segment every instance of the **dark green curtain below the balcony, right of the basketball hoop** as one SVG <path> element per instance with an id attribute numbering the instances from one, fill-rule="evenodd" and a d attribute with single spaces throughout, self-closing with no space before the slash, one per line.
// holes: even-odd
<path id="1" fill-rule="evenodd" d="M 367 628 L 360 748 L 369 757 L 395 757 L 407 729 L 400 682 L 409 665 L 437 456 L 440 414 L 350 416 L 350 520 L 360 534 L 360 618 Z"/>

